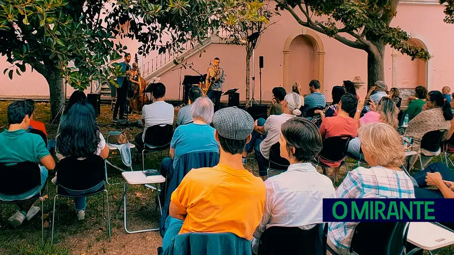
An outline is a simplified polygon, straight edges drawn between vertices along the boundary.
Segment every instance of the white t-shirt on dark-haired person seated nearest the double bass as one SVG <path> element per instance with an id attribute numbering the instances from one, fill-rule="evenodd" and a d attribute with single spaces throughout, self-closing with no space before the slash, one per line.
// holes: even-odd
<path id="1" fill-rule="evenodd" d="M 152 104 L 147 104 L 142 107 L 142 119 L 145 126 L 142 135 L 142 141 L 145 139 L 145 132 L 148 127 L 158 124 L 173 124 L 174 123 L 174 106 L 164 101 L 156 101 Z"/>

